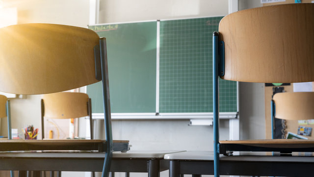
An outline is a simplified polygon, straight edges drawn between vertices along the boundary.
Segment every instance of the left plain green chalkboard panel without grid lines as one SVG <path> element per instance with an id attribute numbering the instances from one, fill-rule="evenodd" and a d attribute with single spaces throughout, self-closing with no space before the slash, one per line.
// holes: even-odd
<path id="1" fill-rule="evenodd" d="M 106 38 L 112 113 L 156 111 L 157 21 L 89 26 Z M 87 86 L 93 113 L 104 113 L 101 83 Z"/>

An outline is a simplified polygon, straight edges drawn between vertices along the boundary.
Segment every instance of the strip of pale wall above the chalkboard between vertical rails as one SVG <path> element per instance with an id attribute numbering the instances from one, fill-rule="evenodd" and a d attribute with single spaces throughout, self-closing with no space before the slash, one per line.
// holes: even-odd
<path id="1" fill-rule="evenodd" d="M 228 0 L 101 0 L 99 23 L 228 14 Z"/>

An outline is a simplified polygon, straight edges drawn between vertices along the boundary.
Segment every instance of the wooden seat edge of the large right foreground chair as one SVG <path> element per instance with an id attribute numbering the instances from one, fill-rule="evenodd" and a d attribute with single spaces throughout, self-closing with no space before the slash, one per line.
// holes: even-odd
<path id="1" fill-rule="evenodd" d="M 228 154 L 233 151 L 314 152 L 314 140 L 274 139 L 219 141 L 219 152 L 221 154 Z"/>

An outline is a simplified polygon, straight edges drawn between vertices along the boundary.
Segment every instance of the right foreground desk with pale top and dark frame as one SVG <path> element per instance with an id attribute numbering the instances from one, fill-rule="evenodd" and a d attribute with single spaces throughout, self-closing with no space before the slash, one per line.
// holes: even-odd
<path id="1" fill-rule="evenodd" d="M 179 174 L 213 175 L 212 151 L 186 151 L 166 154 L 169 177 Z M 313 176 L 314 156 L 311 152 L 292 153 L 291 156 L 272 155 L 271 152 L 245 152 L 240 155 L 220 155 L 220 175 L 244 176 Z"/>

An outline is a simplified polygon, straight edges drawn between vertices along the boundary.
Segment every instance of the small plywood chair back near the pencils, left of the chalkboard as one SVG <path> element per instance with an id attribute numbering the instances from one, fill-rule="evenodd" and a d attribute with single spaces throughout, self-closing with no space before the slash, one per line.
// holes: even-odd
<path id="1" fill-rule="evenodd" d="M 58 92 L 43 95 L 45 118 L 80 118 L 88 116 L 88 95 Z"/>

